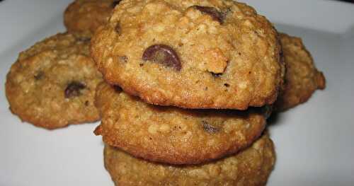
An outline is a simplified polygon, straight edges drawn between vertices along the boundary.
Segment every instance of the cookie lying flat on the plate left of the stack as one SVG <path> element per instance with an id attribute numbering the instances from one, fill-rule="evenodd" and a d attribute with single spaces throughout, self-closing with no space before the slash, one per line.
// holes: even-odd
<path id="1" fill-rule="evenodd" d="M 102 75 L 89 43 L 59 33 L 21 52 L 6 79 L 13 114 L 47 129 L 99 120 L 94 97 Z"/>

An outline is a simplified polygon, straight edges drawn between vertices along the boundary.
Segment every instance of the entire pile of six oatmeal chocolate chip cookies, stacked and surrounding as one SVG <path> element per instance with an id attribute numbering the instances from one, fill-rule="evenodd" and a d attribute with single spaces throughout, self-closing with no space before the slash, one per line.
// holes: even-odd
<path id="1" fill-rule="evenodd" d="M 301 39 L 236 1 L 76 0 L 64 24 L 21 52 L 6 97 L 46 129 L 101 118 L 115 185 L 265 185 L 270 113 L 325 87 Z"/>

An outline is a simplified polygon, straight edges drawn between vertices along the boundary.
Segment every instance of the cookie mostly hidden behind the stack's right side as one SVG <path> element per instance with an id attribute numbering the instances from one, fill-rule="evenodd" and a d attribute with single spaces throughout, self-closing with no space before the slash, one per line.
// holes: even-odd
<path id="1" fill-rule="evenodd" d="M 286 110 L 309 100 L 316 89 L 324 89 L 326 79 L 316 69 L 301 38 L 280 33 L 280 42 L 287 71 L 285 88 L 280 92 L 275 107 L 277 110 Z"/>

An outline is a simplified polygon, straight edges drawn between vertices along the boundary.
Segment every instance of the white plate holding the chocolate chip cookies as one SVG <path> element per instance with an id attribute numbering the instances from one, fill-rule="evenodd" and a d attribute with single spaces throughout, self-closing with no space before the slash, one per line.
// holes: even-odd
<path id="1" fill-rule="evenodd" d="M 0 3 L 0 185 L 113 185 L 97 124 L 47 131 L 11 115 L 4 83 L 18 52 L 64 31 L 71 0 Z M 246 1 L 278 30 L 303 38 L 325 91 L 270 124 L 278 154 L 268 185 L 354 185 L 354 6 L 335 1 Z"/>

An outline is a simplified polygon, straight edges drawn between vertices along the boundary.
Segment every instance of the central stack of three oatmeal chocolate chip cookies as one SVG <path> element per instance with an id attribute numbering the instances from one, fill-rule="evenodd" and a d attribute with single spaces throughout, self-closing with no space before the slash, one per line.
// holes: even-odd
<path id="1" fill-rule="evenodd" d="M 278 33 L 235 1 L 120 1 L 91 40 L 116 185 L 265 185 Z"/>

